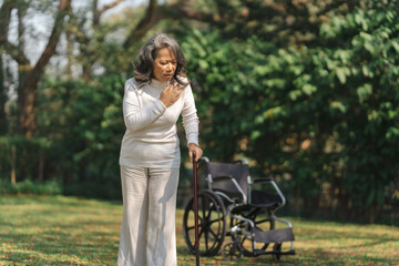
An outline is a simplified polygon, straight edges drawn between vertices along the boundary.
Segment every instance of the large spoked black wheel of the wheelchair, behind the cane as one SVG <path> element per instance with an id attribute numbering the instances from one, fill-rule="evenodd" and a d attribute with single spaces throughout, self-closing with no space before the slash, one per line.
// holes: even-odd
<path id="1" fill-rule="evenodd" d="M 214 256 L 224 242 L 226 209 L 222 200 L 214 192 L 202 190 L 198 196 L 198 238 L 200 254 Z M 194 198 L 192 197 L 183 216 L 184 238 L 191 253 L 195 253 Z"/>

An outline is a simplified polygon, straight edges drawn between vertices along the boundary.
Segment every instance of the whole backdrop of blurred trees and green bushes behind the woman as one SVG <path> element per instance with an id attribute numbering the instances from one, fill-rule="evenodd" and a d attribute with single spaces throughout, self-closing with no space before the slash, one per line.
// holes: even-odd
<path id="1" fill-rule="evenodd" d="M 188 60 L 206 156 L 274 175 L 286 214 L 399 225 L 398 1 L 151 0 L 104 16 L 123 3 L 111 2 L 2 1 L 2 194 L 120 201 L 123 85 L 137 49 L 166 32 Z"/>

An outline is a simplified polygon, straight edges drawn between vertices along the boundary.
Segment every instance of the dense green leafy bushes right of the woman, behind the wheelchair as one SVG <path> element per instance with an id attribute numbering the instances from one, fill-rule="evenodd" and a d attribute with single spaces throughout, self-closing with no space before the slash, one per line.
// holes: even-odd
<path id="1" fill-rule="evenodd" d="M 300 49 L 187 34 L 206 152 L 254 158 L 307 209 L 328 193 L 346 218 L 367 209 L 374 222 L 398 183 L 398 21 L 397 10 L 356 9 L 320 27 L 324 45 Z"/>

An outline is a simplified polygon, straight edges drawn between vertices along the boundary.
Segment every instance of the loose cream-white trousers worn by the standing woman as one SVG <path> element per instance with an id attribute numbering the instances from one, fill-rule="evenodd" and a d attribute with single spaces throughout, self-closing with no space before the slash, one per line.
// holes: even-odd
<path id="1" fill-rule="evenodd" d="M 123 219 L 119 266 L 177 265 L 178 168 L 121 166 Z"/>

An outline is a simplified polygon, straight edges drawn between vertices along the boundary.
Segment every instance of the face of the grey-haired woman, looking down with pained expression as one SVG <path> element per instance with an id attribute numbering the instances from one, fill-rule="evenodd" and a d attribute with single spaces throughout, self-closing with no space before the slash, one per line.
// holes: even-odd
<path id="1" fill-rule="evenodd" d="M 167 82 L 176 71 L 177 61 L 171 48 L 162 48 L 156 51 L 154 60 L 153 78 L 161 82 Z"/>

